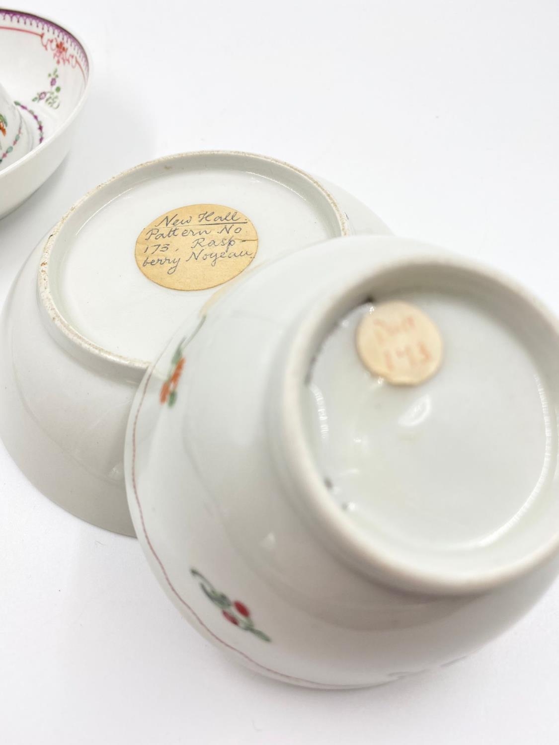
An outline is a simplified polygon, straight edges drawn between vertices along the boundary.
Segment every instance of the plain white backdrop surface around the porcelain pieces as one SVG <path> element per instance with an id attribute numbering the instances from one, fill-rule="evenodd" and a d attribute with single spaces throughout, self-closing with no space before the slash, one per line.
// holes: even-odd
<path id="1" fill-rule="evenodd" d="M 87 189 L 155 156 L 230 148 L 320 174 L 394 232 L 508 270 L 559 311 L 557 0 L 27 10 L 84 39 L 95 79 L 69 158 L 0 222 L 0 300 Z M 559 585 L 461 665 L 306 691 L 223 659 L 135 540 L 55 507 L 3 449 L 0 489 L 1 745 L 559 741 Z"/>

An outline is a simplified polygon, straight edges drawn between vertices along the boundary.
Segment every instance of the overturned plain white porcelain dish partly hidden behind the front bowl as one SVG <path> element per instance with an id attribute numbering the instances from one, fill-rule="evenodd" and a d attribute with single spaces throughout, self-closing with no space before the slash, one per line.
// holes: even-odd
<path id="1" fill-rule="evenodd" d="M 151 282 L 136 266 L 134 244 L 165 209 L 203 201 L 250 212 L 260 238 L 255 267 L 327 235 L 388 232 L 341 189 L 247 153 L 141 165 L 95 188 L 60 221 L 25 264 L 1 317 L 0 435 L 45 495 L 119 533 L 133 534 L 122 459 L 136 387 L 183 317 L 215 291 Z M 277 229 L 282 209 L 297 228 L 289 234 Z"/>

